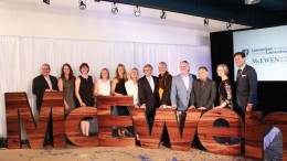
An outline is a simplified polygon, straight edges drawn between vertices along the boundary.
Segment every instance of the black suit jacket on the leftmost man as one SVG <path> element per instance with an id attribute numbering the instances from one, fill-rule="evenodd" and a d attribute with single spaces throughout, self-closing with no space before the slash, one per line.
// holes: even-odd
<path id="1" fill-rule="evenodd" d="M 52 76 L 52 75 L 50 75 L 49 77 L 50 77 L 50 80 L 52 83 L 52 88 L 54 90 L 57 90 L 59 89 L 57 88 L 57 78 Z M 45 89 L 49 89 L 49 88 L 50 87 L 47 85 L 47 82 L 42 74 L 33 79 L 32 92 L 33 92 L 34 95 L 36 95 L 36 109 L 38 109 L 38 111 L 40 111 Z"/>

